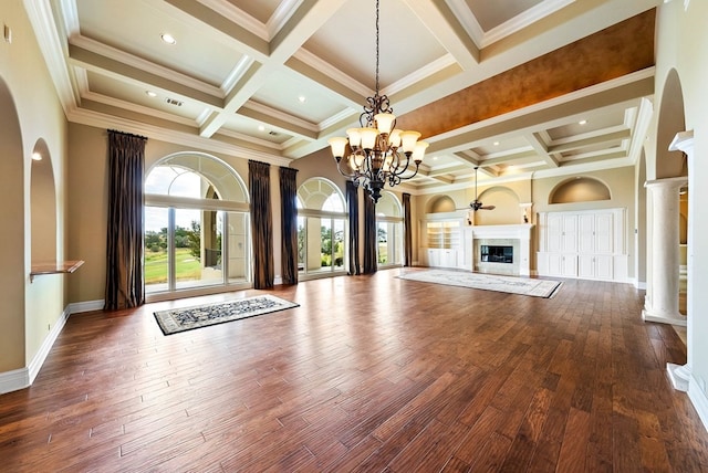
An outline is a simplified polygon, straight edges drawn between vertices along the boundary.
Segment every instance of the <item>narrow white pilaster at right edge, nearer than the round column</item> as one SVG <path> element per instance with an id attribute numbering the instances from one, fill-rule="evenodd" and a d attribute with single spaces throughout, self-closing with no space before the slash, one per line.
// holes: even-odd
<path id="1" fill-rule="evenodd" d="M 694 239 L 695 234 L 693 231 L 693 222 L 694 222 L 694 212 L 696 211 L 696 192 L 690 192 L 691 186 L 694 182 L 694 174 L 691 172 L 694 169 L 694 132 L 681 132 L 676 134 L 671 145 L 668 147 L 669 151 L 684 151 L 688 159 L 688 252 L 687 252 L 687 265 L 688 265 L 688 275 L 687 275 L 687 294 L 688 298 L 686 299 L 686 353 L 688 355 L 686 365 L 676 365 L 673 362 L 666 364 L 666 370 L 668 371 L 669 379 L 671 380 L 671 385 L 674 385 L 674 389 L 679 391 L 688 391 L 688 387 L 690 385 L 691 369 L 690 366 L 693 364 L 693 353 L 688 345 L 693 343 L 693 334 L 694 334 L 694 317 L 696 316 L 694 313 Z M 694 187 L 695 189 L 695 187 Z"/>

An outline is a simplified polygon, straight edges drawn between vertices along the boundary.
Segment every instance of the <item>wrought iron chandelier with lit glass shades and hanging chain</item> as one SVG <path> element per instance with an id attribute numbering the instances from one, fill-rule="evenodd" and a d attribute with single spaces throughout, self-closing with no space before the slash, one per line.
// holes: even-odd
<path id="1" fill-rule="evenodd" d="M 418 174 L 426 141 L 418 141 L 420 134 L 396 128 L 396 116 L 386 95 L 378 94 L 378 0 L 376 0 L 376 91 L 366 98 L 364 113 L 360 115 L 360 128 L 346 130 L 348 138 L 330 138 L 332 155 L 340 174 L 366 189 L 374 202 L 378 202 L 384 185 L 391 187 Z M 415 170 L 408 166 L 415 165 Z"/>

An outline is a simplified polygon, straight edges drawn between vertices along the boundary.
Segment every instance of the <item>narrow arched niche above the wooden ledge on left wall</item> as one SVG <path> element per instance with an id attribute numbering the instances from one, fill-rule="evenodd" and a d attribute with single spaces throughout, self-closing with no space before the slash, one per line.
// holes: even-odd
<path id="1" fill-rule="evenodd" d="M 30 216 L 32 263 L 56 261 L 56 186 L 52 157 L 44 139 L 32 150 L 30 175 Z"/>

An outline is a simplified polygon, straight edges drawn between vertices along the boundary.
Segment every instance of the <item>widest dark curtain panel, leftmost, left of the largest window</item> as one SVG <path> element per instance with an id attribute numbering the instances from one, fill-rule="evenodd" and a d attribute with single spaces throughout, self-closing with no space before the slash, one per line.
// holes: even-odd
<path id="1" fill-rule="evenodd" d="M 108 231 L 106 242 L 107 311 L 145 303 L 143 281 L 142 136 L 108 130 Z"/>

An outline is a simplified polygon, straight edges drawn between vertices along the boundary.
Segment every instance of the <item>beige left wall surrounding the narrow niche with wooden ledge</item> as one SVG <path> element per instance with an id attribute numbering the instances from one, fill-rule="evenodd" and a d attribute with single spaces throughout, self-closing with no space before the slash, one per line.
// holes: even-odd
<path id="1" fill-rule="evenodd" d="M 0 23 L 12 30 L 12 42 L 0 41 L 0 78 L 9 88 L 14 111 L 2 104 L 0 122 L 19 123 L 13 136 L 3 136 L 1 172 L 3 199 L 0 214 L 7 228 L 1 244 L 8 249 L 2 261 L 0 286 L 0 372 L 29 366 L 66 307 L 66 276 L 49 275 L 30 282 L 32 265 L 31 155 L 43 143 L 55 179 L 56 252 L 65 257 L 65 162 L 66 120 L 50 80 L 44 59 L 20 0 L 6 0 Z M 18 135 L 19 132 L 19 135 Z M 7 146 L 18 144 L 11 153 Z M 12 162 L 8 162 L 12 161 Z M 17 168 L 15 168 L 17 167 Z M 52 199 L 48 199 L 52 200 Z M 38 210 L 39 211 L 39 210 Z M 18 216 L 18 212 L 20 214 Z"/>

